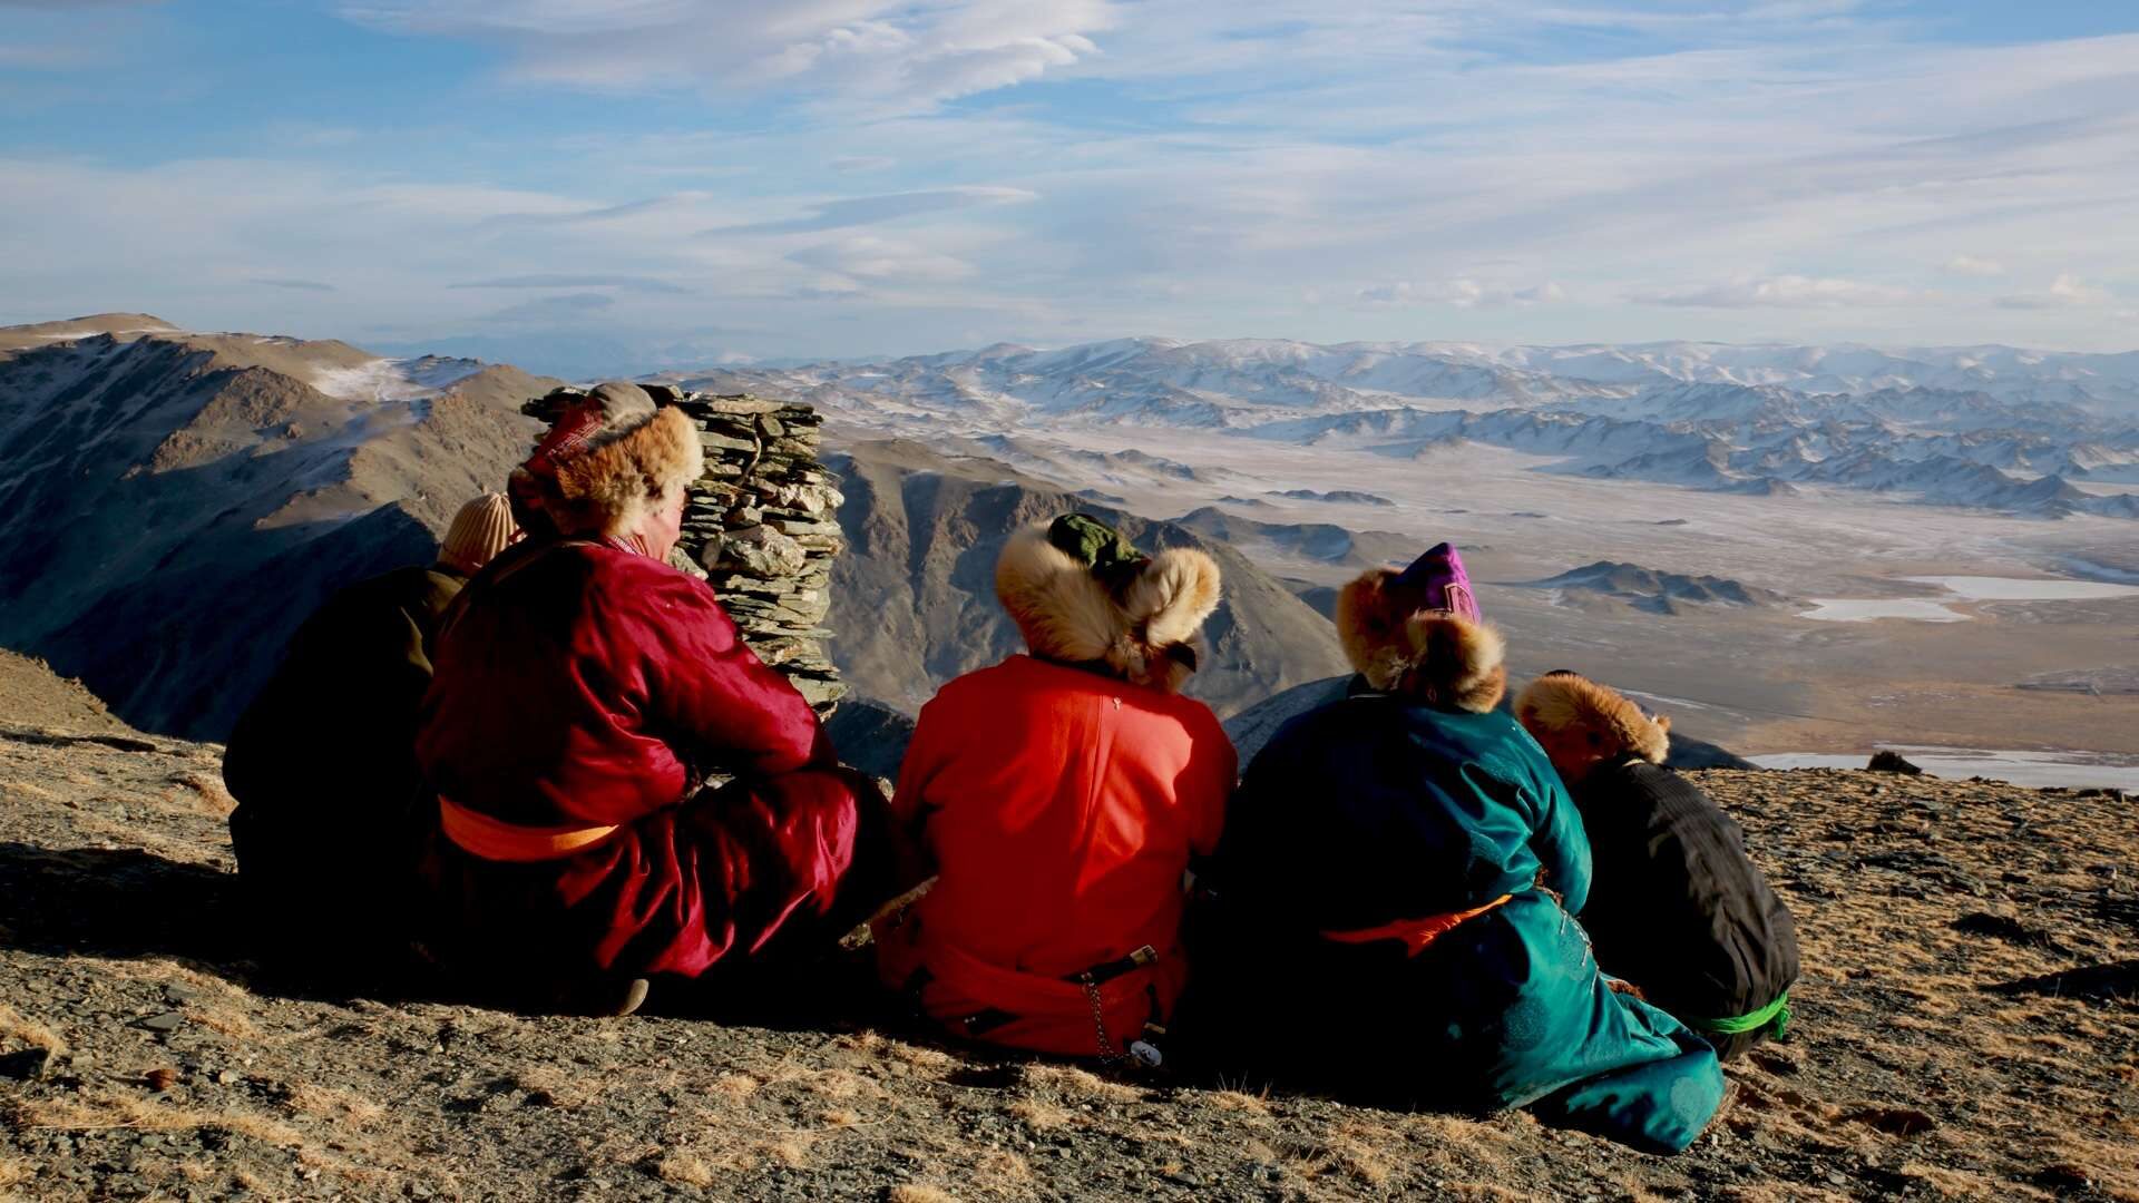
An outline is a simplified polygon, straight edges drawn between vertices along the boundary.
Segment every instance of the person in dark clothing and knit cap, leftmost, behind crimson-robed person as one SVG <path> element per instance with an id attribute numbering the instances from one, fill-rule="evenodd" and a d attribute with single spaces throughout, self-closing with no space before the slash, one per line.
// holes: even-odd
<path id="1" fill-rule="evenodd" d="M 438 616 L 518 537 L 505 497 L 462 505 L 432 565 L 351 584 L 297 627 L 222 753 L 231 848 L 263 950 L 366 972 L 409 940 L 417 706 Z"/>

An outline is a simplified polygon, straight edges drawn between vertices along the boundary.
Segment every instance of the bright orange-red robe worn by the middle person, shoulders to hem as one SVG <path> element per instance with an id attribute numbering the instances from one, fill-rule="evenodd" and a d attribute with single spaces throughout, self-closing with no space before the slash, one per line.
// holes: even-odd
<path id="1" fill-rule="evenodd" d="M 1095 987 L 1119 1055 L 1187 983 L 1181 878 L 1217 846 L 1232 786 L 1202 702 L 1027 655 L 952 681 L 892 801 L 939 878 L 883 935 L 886 980 L 920 983 L 952 1032 L 1097 1055 L 1091 995 L 1065 978 L 1151 946 Z"/>

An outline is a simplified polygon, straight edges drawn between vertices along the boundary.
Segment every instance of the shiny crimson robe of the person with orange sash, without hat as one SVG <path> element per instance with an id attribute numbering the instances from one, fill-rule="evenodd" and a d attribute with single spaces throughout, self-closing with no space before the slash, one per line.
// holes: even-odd
<path id="1" fill-rule="evenodd" d="M 492 959 L 697 976 L 798 910 L 832 912 L 858 843 L 881 841 L 881 798 L 836 766 L 809 702 L 665 563 L 513 548 L 434 661 L 417 760 L 441 796 L 518 826 L 620 826 L 533 865 L 434 841 L 441 918 Z M 738 781 L 697 792 L 708 771 Z"/>

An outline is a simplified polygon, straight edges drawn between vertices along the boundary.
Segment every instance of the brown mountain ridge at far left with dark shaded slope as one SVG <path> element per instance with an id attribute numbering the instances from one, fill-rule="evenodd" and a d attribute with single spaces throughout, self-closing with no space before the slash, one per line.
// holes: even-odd
<path id="1" fill-rule="evenodd" d="M 90 334 L 0 330 L 0 644 L 193 736 L 229 728 L 327 593 L 428 559 L 545 387 L 143 315 L 53 325 Z"/>

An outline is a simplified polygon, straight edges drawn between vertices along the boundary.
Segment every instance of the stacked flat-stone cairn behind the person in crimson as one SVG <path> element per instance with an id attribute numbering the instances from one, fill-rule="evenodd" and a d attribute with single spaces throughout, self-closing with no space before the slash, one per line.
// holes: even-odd
<path id="1" fill-rule="evenodd" d="M 832 557 L 843 497 L 817 462 L 824 417 L 806 405 L 757 396 L 714 396 L 674 385 L 640 385 L 655 405 L 674 405 L 697 426 L 706 475 L 691 486 L 682 539 L 670 559 L 706 578 L 751 651 L 787 674 L 819 715 L 830 717 L 847 685 L 824 640 L 832 606 Z M 560 387 L 522 407 L 554 422 L 586 390 Z"/>

